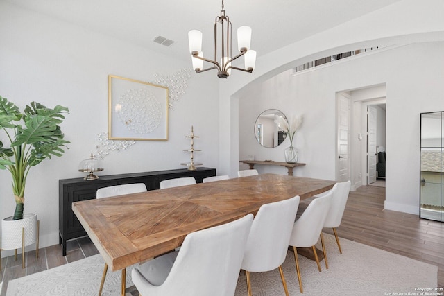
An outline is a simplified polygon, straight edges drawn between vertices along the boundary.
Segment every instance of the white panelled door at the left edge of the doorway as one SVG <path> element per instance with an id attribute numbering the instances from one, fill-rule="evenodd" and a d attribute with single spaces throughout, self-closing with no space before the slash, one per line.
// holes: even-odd
<path id="1" fill-rule="evenodd" d="M 337 95 L 338 105 L 338 162 L 337 181 L 350 180 L 348 134 L 350 129 L 350 99 L 344 94 Z"/>

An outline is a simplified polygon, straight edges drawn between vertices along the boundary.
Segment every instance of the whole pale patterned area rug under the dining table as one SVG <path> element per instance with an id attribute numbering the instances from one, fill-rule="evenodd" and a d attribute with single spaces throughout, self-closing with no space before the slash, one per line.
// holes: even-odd
<path id="1" fill-rule="evenodd" d="M 302 295 L 420 295 L 419 289 L 437 286 L 438 268 L 435 265 L 343 238 L 343 254 L 339 254 L 334 236 L 324 236 L 329 269 L 326 269 L 325 262 L 321 261 L 322 272 L 318 272 L 314 261 L 299 256 L 304 288 Z M 127 271 L 127 287 L 133 286 L 130 281 L 130 269 Z M 300 295 L 293 252 L 287 253 L 282 269 L 287 279 L 289 294 Z M 97 295 L 102 270 L 103 259 L 100 255 L 95 255 L 12 280 L 8 284 L 6 295 Z M 103 295 L 119 295 L 120 275 L 121 272 L 108 272 Z M 252 272 L 251 277 L 253 295 L 284 295 L 278 270 Z M 134 292 L 133 295 L 137 295 L 137 291 Z M 245 272 L 240 272 L 235 295 L 247 295 Z"/>

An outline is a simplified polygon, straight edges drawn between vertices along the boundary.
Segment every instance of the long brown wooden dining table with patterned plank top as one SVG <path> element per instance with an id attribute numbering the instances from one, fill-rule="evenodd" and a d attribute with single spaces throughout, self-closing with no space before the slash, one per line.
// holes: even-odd
<path id="1" fill-rule="evenodd" d="M 191 232 L 255 215 L 262 204 L 310 198 L 335 183 L 261 174 L 74 202 L 72 210 L 115 271 L 174 250 Z"/>

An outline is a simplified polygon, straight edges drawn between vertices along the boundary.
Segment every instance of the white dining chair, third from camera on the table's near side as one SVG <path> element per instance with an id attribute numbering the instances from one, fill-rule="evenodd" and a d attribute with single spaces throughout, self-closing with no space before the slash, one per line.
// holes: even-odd
<path id="1" fill-rule="evenodd" d="M 300 277 L 299 261 L 298 261 L 298 247 L 311 247 L 314 253 L 314 259 L 318 265 L 318 270 L 321 271 L 319 264 L 318 253 L 316 245 L 319 236 L 327 218 L 327 213 L 330 210 L 332 202 L 332 192 L 328 192 L 320 198 L 315 198 L 310 202 L 304 213 L 296 220 L 291 232 L 290 243 L 293 247 L 294 260 L 296 261 L 296 272 L 298 272 L 298 281 L 300 293 L 304 293 L 302 288 L 302 278 Z M 323 248 L 324 249 L 324 248 Z M 324 251 L 324 250 L 323 250 Z"/>

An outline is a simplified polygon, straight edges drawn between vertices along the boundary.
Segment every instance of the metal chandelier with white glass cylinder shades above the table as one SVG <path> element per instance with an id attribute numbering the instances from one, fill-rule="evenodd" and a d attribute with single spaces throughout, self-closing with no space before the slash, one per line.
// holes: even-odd
<path id="1" fill-rule="evenodd" d="M 218 26 L 220 24 L 221 26 Z M 218 28 L 219 27 L 219 28 Z M 217 37 L 221 38 L 220 53 L 218 53 Z M 208 70 L 217 69 L 217 76 L 219 78 L 228 78 L 231 73 L 231 69 L 245 71 L 248 73 L 253 72 L 256 63 L 256 51 L 250 49 L 251 42 L 251 28 L 249 26 L 241 26 L 237 29 L 237 47 L 239 48 L 239 54 L 232 58 L 232 30 L 231 21 L 228 15 L 225 15 L 222 10 L 221 15 L 216 17 L 214 22 L 214 60 L 210 60 L 203 57 L 202 52 L 202 32 L 197 30 L 191 30 L 188 32 L 189 51 L 191 52 L 191 60 L 193 62 L 193 69 L 196 73 L 202 73 Z M 232 61 L 244 55 L 245 69 L 233 67 Z M 214 64 L 213 67 L 203 69 L 203 61 Z"/>

